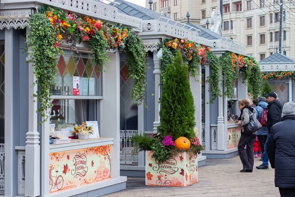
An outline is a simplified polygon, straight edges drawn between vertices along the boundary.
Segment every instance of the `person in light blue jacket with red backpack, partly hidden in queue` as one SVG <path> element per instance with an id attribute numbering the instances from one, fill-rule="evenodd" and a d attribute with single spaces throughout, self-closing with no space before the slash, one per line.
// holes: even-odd
<path id="1" fill-rule="evenodd" d="M 254 99 L 253 103 L 255 104 L 255 108 L 256 108 L 256 118 L 257 120 L 262 123 L 262 122 L 266 122 L 267 123 L 267 102 L 266 102 L 266 98 L 265 97 L 260 97 L 259 99 Z M 262 115 L 264 115 L 262 117 Z M 264 120 L 262 120 L 264 119 Z M 265 143 L 266 143 L 266 138 L 268 135 L 268 129 L 267 129 L 267 124 L 262 124 L 263 127 L 257 131 L 257 137 L 260 143 L 260 148 L 262 153 L 264 152 L 264 147 L 265 147 Z M 264 126 L 265 125 L 265 126 Z M 261 156 L 262 158 L 262 156 Z M 261 161 L 262 159 L 260 159 Z"/>

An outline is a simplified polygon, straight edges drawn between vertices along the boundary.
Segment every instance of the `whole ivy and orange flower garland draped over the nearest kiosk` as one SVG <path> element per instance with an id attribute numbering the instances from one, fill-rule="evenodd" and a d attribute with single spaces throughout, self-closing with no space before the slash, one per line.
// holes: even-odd
<path id="1" fill-rule="evenodd" d="M 52 107 L 51 96 L 57 69 L 57 56 L 62 54 L 59 44 L 67 43 L 71 47 L 85 42 L 93 52 L 93 60 L 99 67 L 109 62 L 107 50 L 125 51 L 128 71 L 134 79 L 131 91 L 132 99 L 140 105 L 145 99 L 146 91 L 146 52 L 142 40 L 130 29 L 103 24 L 84 16 L 64 12 L 61 9 L 44 6 L 30 16 L 30 33 L 27 38 L 27 49 L 34 67 L 38 91 L 34 98 L 40 102 L 38 112 L 47 120 L 47 110 Z"/>

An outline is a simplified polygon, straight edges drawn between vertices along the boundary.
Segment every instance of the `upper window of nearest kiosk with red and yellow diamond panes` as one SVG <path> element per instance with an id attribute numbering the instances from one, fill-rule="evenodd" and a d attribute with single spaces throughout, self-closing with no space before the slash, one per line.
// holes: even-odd
<path id="1" fill-rule="evenodd" d="M 78 76 L 80 95 L 102 96 L 102 77 L 95 71 L 98 66 L 92 63 L 92 59 L 88 53 L 64 51 L 64 55 L 58 57 L 53 95 L 73 95 L 73 76 Z"/>

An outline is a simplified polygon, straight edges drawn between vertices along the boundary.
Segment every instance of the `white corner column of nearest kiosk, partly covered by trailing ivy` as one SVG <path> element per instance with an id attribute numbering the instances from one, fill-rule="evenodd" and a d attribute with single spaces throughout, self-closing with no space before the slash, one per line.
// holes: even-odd
<path id="1" fill-rule="evenodd" d="M 27 27 L 27 36 L 29 28 Z M 28 57 L 28 60 L 30 58 Z M 40 145 L 39 132 L 37 130 L 37 102 L 34 102 L 33 94 L 37 92 L 37 85 L 32 86 L 35 82 L 34 68 L 29 62 L 29 128 L 26 133 L 26 182 L 25 182 L 25 196 L 37 197 L 40 196 Z"/>

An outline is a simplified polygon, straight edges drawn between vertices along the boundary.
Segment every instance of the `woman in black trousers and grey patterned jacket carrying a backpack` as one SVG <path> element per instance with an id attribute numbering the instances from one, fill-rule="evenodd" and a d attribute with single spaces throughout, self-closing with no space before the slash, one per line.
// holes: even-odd
<path id="1" fill-rule="evenodd" d="M 253 144 L 257 131 L 252 134 L 248 134 L 244 126 L 249 124 L 250 116 L 256 116 L 256 110 L 255 107 L 251 106 L 249 99 L 240 99 L 238 101 L 238 108 L 241 110 L 238 125 L 242 126 L 241 136 L 237 146 L 238 155 L 243 164 L 243 169 L 240 170 L 240 172 L 253 172 Z"/>

